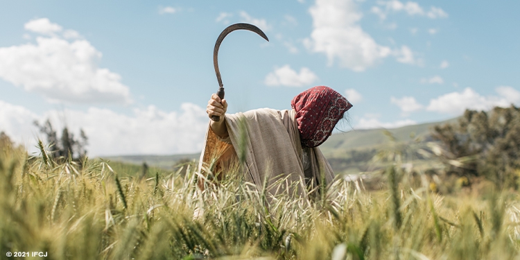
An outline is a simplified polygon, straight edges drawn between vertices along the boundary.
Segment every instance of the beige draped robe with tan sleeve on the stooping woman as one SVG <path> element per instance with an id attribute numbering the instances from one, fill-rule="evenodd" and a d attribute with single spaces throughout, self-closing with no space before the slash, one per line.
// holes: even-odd
<path id="1" fill-rule="evenodd" d="M 225 114 L 225 116 L 229 133 L 227 142 L 230 142 L 234 148 L 225 153 L 234 153 L 245 158 L 245 165 L 243 165 L 245 180 L 254 183 L 257 189 L 262 189 L 264 180 L 270 187 L 279 177 L 287 177 L 288 184 L 294 182 L 302 184 L 302 180 L 305 179 L 313 180 L 311 182 L 313 186 L 321 185 L 321 180 L 324 180 L 326 185 L 333 181 L 332 168 L 318 147 L 305 148 L 311 164 L 309 171 L 306 171 L 307 176 L 305 175 L 302 164 L 304 150 L 295 121 L 295 110 L 280 111 L 263 108 L 245 113 Z M 220 139 L 208 128 L 205 146 L 200 155 L 199 169 L 211 164 L 214 151 L 225 150 L 225 146 L 229 146 L 226 140 Z M 270 193 L 275 193 L 274 195 L 280 193 L 281 189 L 274 188 L 269 189 Z M 303 190 L 298 190 L 296 193 L 302 195 Z"/>

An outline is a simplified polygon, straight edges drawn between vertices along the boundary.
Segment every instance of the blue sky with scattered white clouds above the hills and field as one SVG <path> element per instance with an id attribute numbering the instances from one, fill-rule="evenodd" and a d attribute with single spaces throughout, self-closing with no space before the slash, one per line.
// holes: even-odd
<path id="1" fill-rule="evenodd" d="M 228 113 L 291 109 L 326 85 L 353 105 L 347 131 L 520 105 L 520 1 L 0 0 L 0 131 L 35 150 L 49 119 L 90 156 L 202 149 L 207 101 Z"/>

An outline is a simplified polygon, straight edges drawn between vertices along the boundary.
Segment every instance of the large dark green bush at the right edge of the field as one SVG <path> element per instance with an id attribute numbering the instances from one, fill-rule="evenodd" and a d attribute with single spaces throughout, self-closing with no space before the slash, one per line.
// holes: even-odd
<path id="1" fill-rule="evenodd" d="M 448 173 L 485 176 L 500 188 L 517 189 L 519 107 L 494 107 L 490 112 L 466 110 L 457 123 L 435 126 L 433 139 L 445 149 L 442 156 Z"/>

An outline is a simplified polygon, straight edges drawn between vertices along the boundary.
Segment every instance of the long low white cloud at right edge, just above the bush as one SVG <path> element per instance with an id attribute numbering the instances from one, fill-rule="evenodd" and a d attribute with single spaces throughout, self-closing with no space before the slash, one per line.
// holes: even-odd
<path id="1" fill-rule="evenodd" d="M 490 110 L 520 103 L 520 92 L 509 86 L 496 87 L 499 96 L 481 96 L 470 87 L 462 92 L 451 92 L 430 101 L 426 110 L 443 114 L 462 114 L 466 109 Z"/>

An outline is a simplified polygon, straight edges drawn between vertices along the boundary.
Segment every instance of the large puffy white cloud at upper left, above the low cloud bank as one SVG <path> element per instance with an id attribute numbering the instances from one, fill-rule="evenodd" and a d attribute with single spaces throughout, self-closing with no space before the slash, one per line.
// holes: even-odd
<path id="1" fill-rule="evenodd" d="M 51 102 L 130 103 L 130 90 L 121 76 L 97 66 L 101 56 L 87 40 L 39 36 L 35 44 L 0 48 L 0 78 Z"/>

